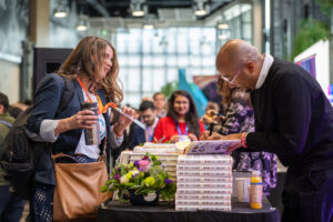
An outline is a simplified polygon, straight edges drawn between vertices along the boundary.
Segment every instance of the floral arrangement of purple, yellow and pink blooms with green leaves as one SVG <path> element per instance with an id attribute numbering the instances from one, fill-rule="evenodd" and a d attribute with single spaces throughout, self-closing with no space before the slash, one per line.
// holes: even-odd
<path id="1" fill-rule="evenodd" d="M 164 200 L 170 200 L 175 193 L 175 183 L 164 171 L 157 155 L 145 153 L 140 161 L 130 164 L 119 164 L 110 173 L 110 179 L 101 188 L 101 192 L 118 191 L 119 200 L 125 201 L 130 191 L 135 195 L 147 195 L 158 191 Z"/>

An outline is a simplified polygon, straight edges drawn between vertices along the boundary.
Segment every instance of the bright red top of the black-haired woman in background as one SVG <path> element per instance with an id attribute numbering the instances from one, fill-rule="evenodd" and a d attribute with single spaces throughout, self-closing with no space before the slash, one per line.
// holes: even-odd
<path id="1" fill-rule="evenodd" d="M 201 133 L 205 129 L 204 129 L 204 125 L 201 121 L 199 121 L 199 125 L 200 125 L 200 133 Z M 182 134 L 184 134 L 185 129 L 186 129 L 186 123 L 185 122 L 180 122 L 179 128 L 180 128 Z M 193 133 L 193 132 L 190 132 L 190 130 L 189 130 L 189 133 Z M 169 118 L 169 117 L 165 117 L 165 118 L 162 118 L 159 121 L 159 123 L 155 128 L 154 138 L 155 138 L 155 140 L 159 141 L 164 135 L 164 140 L 162 142 L 168 142 L 168 141 L 170 141 L 171 137 L 175 135 L 175 134 L 179 134 L 179 133 L 176 131 L 176 127 L 175 127 L 175 123 L 174 123 L 173 119 Z M 198 140 L 199 140 L 199 138 L 198 138 Z"/>

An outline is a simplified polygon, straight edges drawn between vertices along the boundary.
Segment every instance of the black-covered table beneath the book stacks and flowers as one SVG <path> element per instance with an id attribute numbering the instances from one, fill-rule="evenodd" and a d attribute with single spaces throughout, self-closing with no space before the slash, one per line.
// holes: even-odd
<path id="1" fill-rule="evenodd" d="M 137 206 L 110 201 L 98 211 L 99 222 L 279 222 L 280 215 L 266 198 L 261 210 L 252 210 L 249 203 L 240 203 L 232 196 L 232 211 L 175 211 L 174 205 L 161 203 L 157 206 Z"/>

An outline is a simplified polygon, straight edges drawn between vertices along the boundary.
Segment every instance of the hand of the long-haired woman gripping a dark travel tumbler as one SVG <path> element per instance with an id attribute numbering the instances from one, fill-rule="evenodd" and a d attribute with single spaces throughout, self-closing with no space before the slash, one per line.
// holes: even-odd
<path id="1" fill-rule="evenodd" d="M 77 114 L 61 119 L 58 122 L 58 127 L 54 130 L 54 134 L 73 130 L 73 129 L 92 129 L 98 123 L 98 117 L 91 110 L 82 110 Z"/>

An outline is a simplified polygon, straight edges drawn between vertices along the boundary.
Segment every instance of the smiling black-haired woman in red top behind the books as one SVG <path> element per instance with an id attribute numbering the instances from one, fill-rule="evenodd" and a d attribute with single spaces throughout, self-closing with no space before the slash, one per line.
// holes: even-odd
<path id="1" fill-rule="evenodd" d="M 204 131 L 191 94 L 183 90 L 174 91 L 169 99 L 165 118 L 160 119 L 154 138 L 157 142 L 195 141 Z"/>

